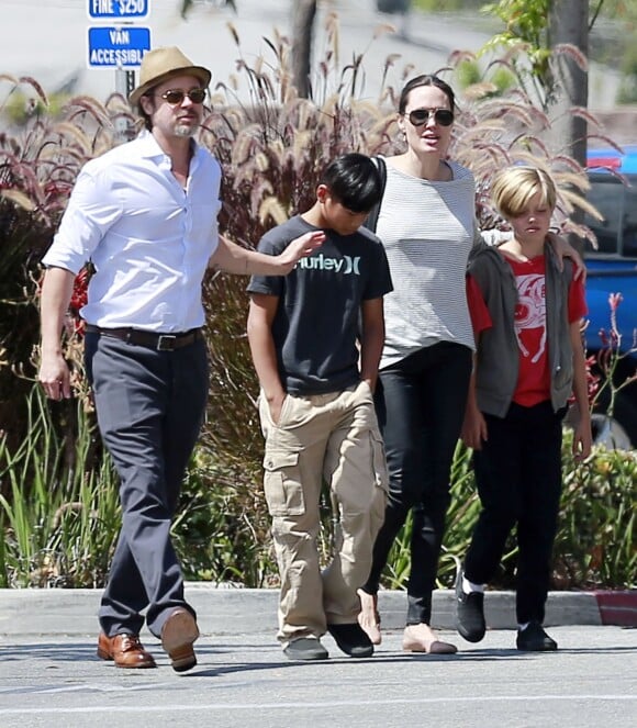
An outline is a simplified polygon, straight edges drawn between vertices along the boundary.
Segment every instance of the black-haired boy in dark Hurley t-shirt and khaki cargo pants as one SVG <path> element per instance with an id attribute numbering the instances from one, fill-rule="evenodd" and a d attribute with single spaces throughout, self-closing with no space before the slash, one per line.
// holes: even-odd
<path id="1" fill-rule="evenodd" d="M 373 645 L 357 621 L 381 525 L 387 471 L 372 392 L 391 291 L 380 240 L 360 226 L 381 195 L 376 165 L 347 154 L 324 170 L 314 205 L 269 231 L 259 250 L 278 255 L 323 231 L 318 255 L 287 277 L 255 276 L 248 339 L 259 378 L 266 439 L 264 486 L 281 575 L 279 634 L 291 660 L 328 657 L 325 631 L 351 657 Z M 321 572 L 316 539 L 326 482 L 336 553 Z"/>

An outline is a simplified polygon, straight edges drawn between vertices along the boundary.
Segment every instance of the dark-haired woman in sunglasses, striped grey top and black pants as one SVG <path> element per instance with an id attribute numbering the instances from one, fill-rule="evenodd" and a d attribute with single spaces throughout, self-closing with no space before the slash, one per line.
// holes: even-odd
<path id="1" fill-rule="evenodd" d="M 385 160 L 377 235 L 387 249 L 394 290 L 384 303 L 387 336 L 376 405 L 390 493 L 371 572 L 359 591 L 360 624 L 380 643 L 380 576 L 411 509 L 403 649 L 438 654 L 456 652 L 431 628 L 432 593 L 474 347 L 465 271 L 480 239 L 473 176 L 447 159 L 454 111 L 454 91 L 442 79 L 409 81 L 398 116 L 406 150 Z"/>

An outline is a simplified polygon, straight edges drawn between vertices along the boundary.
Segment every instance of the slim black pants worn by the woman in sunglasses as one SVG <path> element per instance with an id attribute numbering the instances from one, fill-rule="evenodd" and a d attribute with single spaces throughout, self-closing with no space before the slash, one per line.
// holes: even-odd
<path id="1" fill-rule="evenodd" d="M 378 592 L 393 541 L 413 508 L 407 624 L 429 624 L 432 592 L 449 505 L 449 472 L 465 415 L 471 351 L 423 348 L 380 372 L 376 393 L 390 477 L 384 523 L 364 590 Z"/>

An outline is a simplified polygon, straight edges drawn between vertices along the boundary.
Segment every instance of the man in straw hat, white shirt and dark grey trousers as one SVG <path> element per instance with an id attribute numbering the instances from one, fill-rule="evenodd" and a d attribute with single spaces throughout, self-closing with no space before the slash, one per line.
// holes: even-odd
<path id="1" fill-rule="evenodd" d="M 81 310 L 86 365 L 123 511 L 98 656 L 120 668 L 156 667 L 139 641 L 143 609 L 172 668 L 197 664 L 170 525 L 205 407 L 206 266 L 287 275 L 323 239 L 305 234 L 272 258 L 219 235 L 220 165 L 192 138 L 210 77 L 176 47 L 144 56 L 130 101 L 146 131 L 83 167 L 43 259 L 40 381 L 53 400 L 71 396 L 60 332 L 75 276 L 89 260 L 94 268 Z"/>

